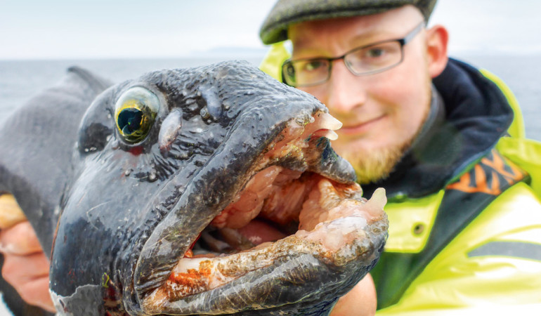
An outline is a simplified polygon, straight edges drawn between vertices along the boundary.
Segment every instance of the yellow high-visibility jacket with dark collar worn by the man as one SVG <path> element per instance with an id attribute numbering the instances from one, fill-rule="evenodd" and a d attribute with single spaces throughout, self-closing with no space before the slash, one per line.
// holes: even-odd
<path id="1" fill-rule="evenodd" d="M 288 56 L 275 45 L 261 70 L 280 80 Z M 438 91 L 450 89 L 447 99 L 473 83 L 477 94 L 471 98 L 485 107 L 495 98 L 494 107 L 507 108 L 511 116 L 507 123 L 480 126 L 503 130 L 475 157 L 454 164 L 443 182 L 412 183 L 402 191 L 393 191 L 396 183 L 376 184 L 391 185 L 385 207 L 389 239 L 371 272 L 377 314 L 541 315 L 541 144 L 525 138 L 519 105 L 500 79 L 457 60 L 448 68 L 454 70 L 434 80 Z M 454 102 L 445 99 L 446 105 Z M 483 121 L 497 121 L 499 113 L 490 115 Z M 475 131 L 466 135 L 478 137 Z"/>

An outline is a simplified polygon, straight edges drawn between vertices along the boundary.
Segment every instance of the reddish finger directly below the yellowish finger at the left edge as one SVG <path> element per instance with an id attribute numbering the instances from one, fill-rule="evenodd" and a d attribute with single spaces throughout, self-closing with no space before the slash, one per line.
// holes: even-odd
<path id="1" fill-rule="evenodd" d="M 42 252 L 36 232 L 27 220 L 0 231 L 0 251 L 18 255 Z"/>

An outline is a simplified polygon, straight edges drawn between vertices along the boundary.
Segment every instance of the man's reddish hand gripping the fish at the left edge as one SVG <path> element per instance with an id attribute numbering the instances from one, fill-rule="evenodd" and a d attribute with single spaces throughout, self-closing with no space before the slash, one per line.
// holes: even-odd
<path id="1" fill-rule="evenodd" d="M 2 277 L 30 305 L 55 312 L 48 291 L 49 261 L 28 221 L 0 231 Z"/>

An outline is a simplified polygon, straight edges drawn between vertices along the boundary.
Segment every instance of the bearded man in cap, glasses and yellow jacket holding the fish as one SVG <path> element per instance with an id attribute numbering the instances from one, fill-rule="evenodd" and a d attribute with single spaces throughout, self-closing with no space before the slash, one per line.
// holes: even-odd
<path id="1" fill-rule="evenodd" d="M 449 60 L 444 27 L 424 27 L 435 2 L 280 0 L 260 35 L 291 40 L 292 56 L 283 62 L 277 44 L 261 68 L 344 123 L 332 145 L 365 195 L 386 188 L 389 239 L 372 270 L 379 313 L 531 312 L 541 303 L 540 147 L 523 138 L 507 88 Z M 357 315 L 367 293 L 370 279 L 335 315 Z"/>

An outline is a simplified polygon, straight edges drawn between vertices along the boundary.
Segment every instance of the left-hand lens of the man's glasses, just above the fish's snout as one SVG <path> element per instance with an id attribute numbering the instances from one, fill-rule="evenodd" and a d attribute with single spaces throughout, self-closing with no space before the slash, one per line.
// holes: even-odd
<path id="1" fill-rule="evenodd" d="M 285 83 L 289 86 L 320 84 L 329 76 L 329 61 L 325 59 L 293 60 L 282 67 Z"/>

